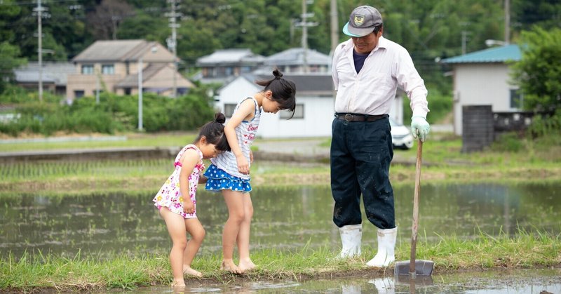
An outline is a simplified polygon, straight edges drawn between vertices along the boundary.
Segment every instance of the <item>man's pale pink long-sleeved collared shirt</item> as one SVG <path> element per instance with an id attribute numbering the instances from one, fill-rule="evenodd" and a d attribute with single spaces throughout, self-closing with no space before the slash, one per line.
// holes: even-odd
<path id="1" fill-rule="evenodd" d="M 337 96 L 335 112 L 388 114 L 398 86 L 410 98 L 414 115 L 426 117 L 426 87 L 403 46 L 379 38 L 357 74 L 353 60 L 353 40 L 339 44 L 333 54 L 332 76 Z"/>

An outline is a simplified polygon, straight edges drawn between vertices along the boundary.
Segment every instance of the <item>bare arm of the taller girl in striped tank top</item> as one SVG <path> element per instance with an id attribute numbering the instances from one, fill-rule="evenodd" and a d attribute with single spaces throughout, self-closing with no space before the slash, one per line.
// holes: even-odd
<path id="1" fill-rule="evenodd" d="M 253 116 L 255 116 L 255 102 L 253 102 L 252 99 L 246 99 L 241 103 L 238 111 L 236 111 L 228 123 L 226 123 L 226 126 L 224 126 L 224 133 L 226 134 L 228 144 L 230 145 L 232 153 L 236 155 L 236 161 L 238 161 L 238 171 L 243 175 L 248 175 L 250 173 L 250 165 L 248 159 L 246 159 L 241 152 L 238 138 L 236 138 L 236 127 L 239 126 L 242 121 L 253 119 Z"/>

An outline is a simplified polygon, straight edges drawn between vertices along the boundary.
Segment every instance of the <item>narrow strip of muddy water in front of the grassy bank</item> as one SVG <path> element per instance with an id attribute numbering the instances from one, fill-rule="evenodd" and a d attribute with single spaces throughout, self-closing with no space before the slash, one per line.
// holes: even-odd
<path id="1" fill-rule="evenodd" d="M 545 291 L 545 292 L 542 292 Z M 561 270 L 515 270 L 465 272 L 452 275 L 386 276 L 384 278 L 330 279 L 208 284 L 189 281 L 183 289 L 158 286 L 139 288 L 135 293 L 561 293 Z"/>

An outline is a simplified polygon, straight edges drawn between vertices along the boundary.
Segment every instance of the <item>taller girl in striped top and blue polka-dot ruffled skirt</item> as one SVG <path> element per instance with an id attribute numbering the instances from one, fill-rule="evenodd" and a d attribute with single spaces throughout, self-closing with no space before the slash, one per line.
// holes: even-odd
<path id="1" fill-rule="evenodd" d="M 222 234 L 222 265 L 220 269 L 242 274 L 255 268 L 250 259 L 250 225 L 253 206 L 250 197 L 250 163 L 253 161 L 251 145 L 255 139 L 262 112 L 276 114 L 288 109 L 294 115 L 296 107 L 295 83 L 283 79 L 283 74 L 275 69 L 274 79 L 257 81 L 264 90 L 253 97 L 243 98 L 231 119 L 224 127 L 231 152 L 218 154 L 211 159 L 205 172 L 208 182 L 205 189 L 221 191 L 228 206 L 229 217 Z M 292 118 L 292 116 L 291 116 Z M 234 243 L 237 242 L 239 266 L 234 263 Z"/>

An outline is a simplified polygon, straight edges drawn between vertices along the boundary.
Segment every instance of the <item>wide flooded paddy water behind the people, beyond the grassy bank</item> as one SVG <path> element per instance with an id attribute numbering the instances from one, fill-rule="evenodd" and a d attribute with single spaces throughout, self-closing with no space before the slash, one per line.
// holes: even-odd
<path id="1" fill-rule="evenodd" d="M 485 233 L 561 233 L 561 183 L 430 185 L 421 190 L 419 240 L 440 236 L 471 238 Z M 411 187 L 396 187 L 398 242 L 411 235 Z M 153 192 L 88 196 L 12 195 L 0 198 L 0 255 L 15 257 L 25 250 L 74 256 L 109 253 L 167 254 L 165 225 L 151 205 Z M 298 250 L 340 246 L 332 223 L 328 186 L 259 187 L 252 192 L 255 215 L 252 249 Z M 201 253 L 221 249 L 227 208 L 222 196 L 200 192 L 198 215 L 207 231 Z M 363 213 L 363 245 L 375 245 L 375 229 Z"/>

